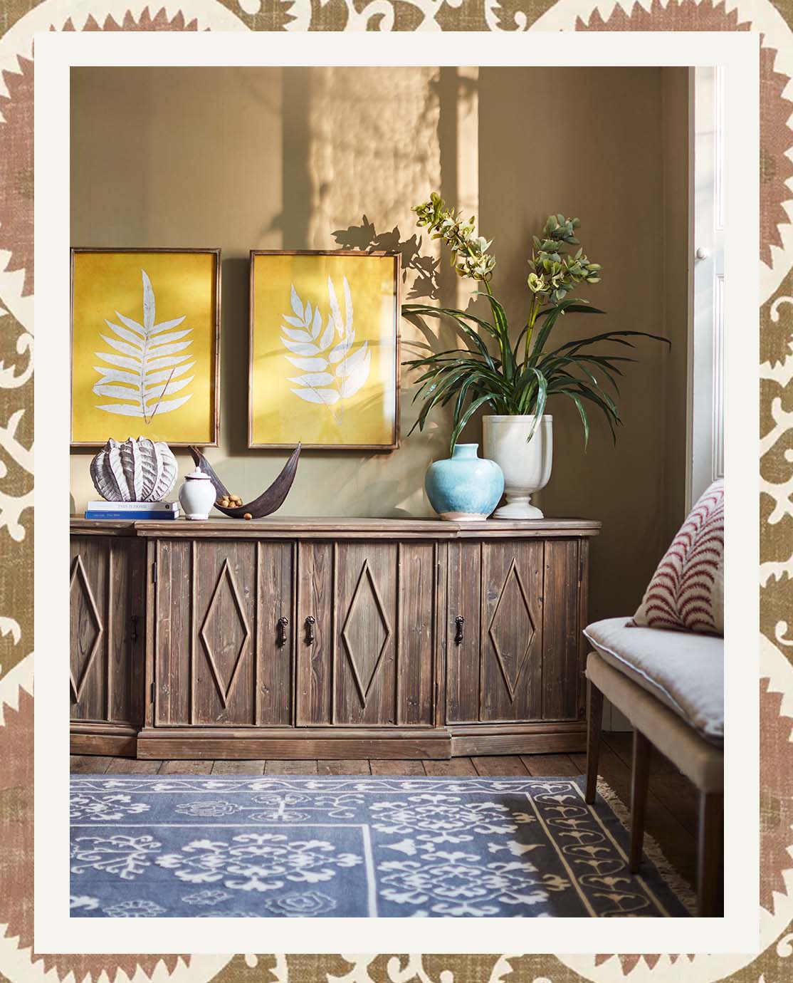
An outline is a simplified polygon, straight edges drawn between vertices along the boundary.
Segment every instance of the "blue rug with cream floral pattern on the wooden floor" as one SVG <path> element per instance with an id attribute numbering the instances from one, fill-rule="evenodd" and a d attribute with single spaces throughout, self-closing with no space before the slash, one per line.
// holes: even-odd
<path id="1" fill-rule="evenodd" d="M 686 916 L 580 779 L 74 776 L 78 917 Z"/>

